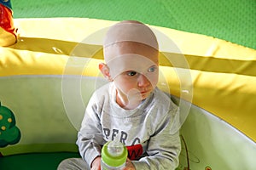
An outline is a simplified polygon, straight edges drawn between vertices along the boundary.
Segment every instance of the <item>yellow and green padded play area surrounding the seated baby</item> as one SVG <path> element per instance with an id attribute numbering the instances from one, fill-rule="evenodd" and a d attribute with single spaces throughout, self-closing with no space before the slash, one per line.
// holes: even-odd
<path id="1" fill-rule="evenodd" d="M 55 170 L 75 144 L 102 39 L 139 20 L 160 42 L 158 87 L 180 107 L 177 170 L 256 167 L 256 2 L 12 0 L 18 41 L 0 47 L 0 169 Z"/>

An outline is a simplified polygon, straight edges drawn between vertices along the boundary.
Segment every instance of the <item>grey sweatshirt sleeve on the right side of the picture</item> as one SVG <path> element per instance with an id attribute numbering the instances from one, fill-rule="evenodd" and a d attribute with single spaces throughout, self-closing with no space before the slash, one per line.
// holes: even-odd
<path id="1" fill-rule="evenodd" d="M 132 161 L 137 170 L 174 170 L 178 166 L 178 156 L 181 150 L 179 130 L 177 129 L 175 133 L 172 131 L 173 126 L 177 126 L 176 124 L 179 123 L 175 119 L 177 112 L 177 108 L 169 111 L 169 114 L 166 114 L 160 122 L 156 132 L 149 140 L 148 156 L 139 161 Z"/>

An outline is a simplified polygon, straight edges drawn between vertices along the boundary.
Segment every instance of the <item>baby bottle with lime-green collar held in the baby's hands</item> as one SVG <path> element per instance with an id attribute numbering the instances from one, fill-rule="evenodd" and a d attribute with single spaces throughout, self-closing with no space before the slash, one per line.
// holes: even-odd
<path id="1" fill-rule="evenodd" d="M 122 170 L 128 155 L 127 148 L 118 141 L 109 141 L 102 147 L 102 170 Z"/>

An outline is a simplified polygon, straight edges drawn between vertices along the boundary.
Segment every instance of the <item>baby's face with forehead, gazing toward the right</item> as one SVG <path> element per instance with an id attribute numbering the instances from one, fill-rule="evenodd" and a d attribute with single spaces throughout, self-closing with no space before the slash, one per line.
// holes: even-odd
<path id="1" fill-rule="evenodd" d="M 138 42 L 119 42 L 104 52 L 119 97 L 146 99 L 158 82 L 158 50 Z"/>

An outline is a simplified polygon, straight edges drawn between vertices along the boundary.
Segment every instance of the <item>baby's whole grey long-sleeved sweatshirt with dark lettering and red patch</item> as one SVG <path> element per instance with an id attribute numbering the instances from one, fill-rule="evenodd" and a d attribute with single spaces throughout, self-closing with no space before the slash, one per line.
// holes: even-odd
<path id="1" fill-rule="evenodd" d="M 90 165 L 101 156 L 102 145 L 118 140 L 127 146 L 137 170 L 175 169 L 181 150 L 178 107 L 170 96 L 155 88 L 136 109 L 127 111 L 116 102 L 109 82 L 90 98 L 78 133 L 80 155 Z M 175 120 L 175 121 L 174 121 Z"/>

